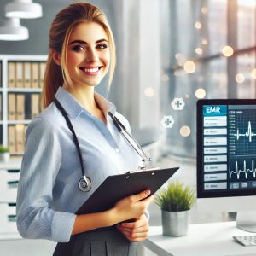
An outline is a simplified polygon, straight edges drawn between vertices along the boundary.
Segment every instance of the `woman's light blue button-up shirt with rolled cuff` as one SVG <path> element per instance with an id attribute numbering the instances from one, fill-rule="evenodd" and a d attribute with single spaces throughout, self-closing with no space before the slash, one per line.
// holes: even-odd
<path id="1" fill-rule="evenodd" d="M 108 175 L 137 169 L 141 158 L 113 125 L 107 114 L 129 123 L 111 102 L 95 93 L 96 103 L 107 124 L 91 115 L 73 96 L 59 88 L 56 98 L 68 113 L 84 160 L 84 171 L 92 181 L 89 192 L 79 190 L 82 178 L 79 155 L 72 132 L 61 112 L 51 103 L 32 119 L 26 131 L 17 196 L 17 227 L 26 238 L 69 241 L 75 214 Z M 106 191 L 107 192 L 107 191 Z"/>

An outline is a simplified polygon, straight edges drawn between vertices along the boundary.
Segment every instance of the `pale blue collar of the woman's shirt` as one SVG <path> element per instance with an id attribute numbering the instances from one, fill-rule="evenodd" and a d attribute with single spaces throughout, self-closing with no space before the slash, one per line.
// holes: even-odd
<path id="1" fill-rule="evenodd" d="M 65 90 L 61 86 L 57 90 L 55 97 L 61 103 L 62 107 L 66 110 L 68 116 L 71 119 L 76 119 L 83 111 L 89 113 L 67 90 Z M 101 108 L 105 116 L 108 114 L 108 112 L 113 113 L 113 115 L 115 114 L 116 108 L 112 102 L 108 102 L 106 98 L 104 98 L 97 92 L 94 92 L 94 98 L 96 104 L 99 108 Z"/>

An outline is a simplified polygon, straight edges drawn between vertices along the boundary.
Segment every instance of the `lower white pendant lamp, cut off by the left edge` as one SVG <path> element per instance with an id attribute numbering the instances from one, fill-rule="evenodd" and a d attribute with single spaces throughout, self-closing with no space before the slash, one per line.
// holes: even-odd
<path id="1" fill-rule="evenodd" d="M 0 40 L 21 41 L 28 39 L 28 30 L 20 26 L 19 18 L 7 18 L 4 26 L 0 26 Z"/>

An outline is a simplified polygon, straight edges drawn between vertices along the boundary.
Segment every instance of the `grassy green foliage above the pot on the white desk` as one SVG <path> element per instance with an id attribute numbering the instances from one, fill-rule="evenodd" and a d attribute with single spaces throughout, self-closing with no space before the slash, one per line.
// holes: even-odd
<path id="1" fill-rule="evenodd" d="M 189 186 L 183 187 L 183 183 L 169 183 L 156 195 L 155 201 L 163 211 L 187 211 L 195 203 L 195 190 Z"/>

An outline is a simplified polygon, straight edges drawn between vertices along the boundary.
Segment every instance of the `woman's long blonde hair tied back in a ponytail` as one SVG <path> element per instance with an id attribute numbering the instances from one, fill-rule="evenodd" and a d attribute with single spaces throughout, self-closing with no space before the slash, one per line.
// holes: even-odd
<path id="1" fill-rule="evenodd" d="M 101 25 L 108 35 L 110 49 L 110 67 L 108 89 L 113 79 L 115 68 L 115 44 L 113 33 L 108 24 L 106 15 L 102 10 L 90 3 L 73 3 L 62 9 L 53 20 L 49 30 L 49 55 L 44 73 L 43 107 L 46 108 L 54 101 L 55 93 L 65 82 L 73 88 L 72 80 L 67 71 L 67 44 L 73 28 L 84 21 L 96 22 Z M 52 56 L 52 50 L 61 54 L 61 67 L 58 66 Z"/>

